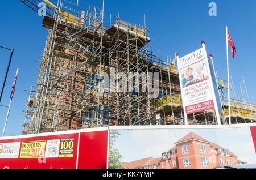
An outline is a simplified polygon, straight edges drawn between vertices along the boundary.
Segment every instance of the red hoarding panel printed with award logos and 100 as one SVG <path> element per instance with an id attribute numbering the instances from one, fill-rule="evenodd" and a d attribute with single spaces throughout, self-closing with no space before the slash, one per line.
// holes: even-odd
<path id="1" fill-rule="evenodd" d="M 0 168 L 76 168 L 79 134 L 0 140 Z"/>

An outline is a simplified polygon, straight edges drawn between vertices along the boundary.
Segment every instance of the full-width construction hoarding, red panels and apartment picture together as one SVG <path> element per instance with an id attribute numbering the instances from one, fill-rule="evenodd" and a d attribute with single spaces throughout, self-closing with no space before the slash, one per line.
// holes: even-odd
<path id="1" fill-rule="evenodd" d="M 216 168 L 256 163 L 255 148 L 254 124 L 109 126 L 0 138 L 0 168 Z"/>

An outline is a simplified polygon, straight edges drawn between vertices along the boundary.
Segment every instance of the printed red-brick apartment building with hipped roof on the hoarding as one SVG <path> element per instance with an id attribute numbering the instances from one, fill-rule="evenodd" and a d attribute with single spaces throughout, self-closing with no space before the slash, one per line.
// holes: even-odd
<path id="1" fill-rule="evenodd" d="M 154 162 L 154 166 L 152 164 Z M 161 158 L 148 157 L 129 163 L 123 168 L 212 169 L 217 166 L 240 164 L 237 155 L 218 144 L 190 132 L 175 143 Z M 157 166 L 156 166 L 157 164 Z"/>

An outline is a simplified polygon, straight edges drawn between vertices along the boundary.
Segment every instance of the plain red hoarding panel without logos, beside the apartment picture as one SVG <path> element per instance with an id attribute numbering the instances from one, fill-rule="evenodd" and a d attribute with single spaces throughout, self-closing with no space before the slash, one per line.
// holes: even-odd
<path id="1" fill-rule="evenodd" d="M 108 131 L 81 132 L 79 145 L 79 169 L 106 169 Z"/>

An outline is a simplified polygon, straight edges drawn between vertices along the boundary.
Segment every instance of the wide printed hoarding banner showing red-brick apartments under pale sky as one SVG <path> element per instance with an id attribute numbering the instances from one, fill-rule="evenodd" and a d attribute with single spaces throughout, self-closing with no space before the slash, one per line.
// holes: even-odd
<path id="1" fill-rule="evenodd" d="M 222 125 L 221 125 L 222 126 Z M 110 129 L 111 168 L 256 168 L 255 127 Z M 125 143 L 123 143 L 125 141 Z"/>

